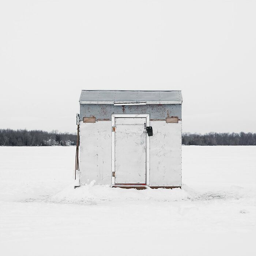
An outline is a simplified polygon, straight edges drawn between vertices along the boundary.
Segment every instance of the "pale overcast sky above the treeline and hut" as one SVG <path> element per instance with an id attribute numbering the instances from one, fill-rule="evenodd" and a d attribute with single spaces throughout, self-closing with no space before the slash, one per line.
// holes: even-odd
<path id="1" fill-rule="evenodd" d="M 256 1 L 0 1 L 0 128 L 76 132 L 82 89 L 182 90 L 185 132 L 256 132 Z"/>

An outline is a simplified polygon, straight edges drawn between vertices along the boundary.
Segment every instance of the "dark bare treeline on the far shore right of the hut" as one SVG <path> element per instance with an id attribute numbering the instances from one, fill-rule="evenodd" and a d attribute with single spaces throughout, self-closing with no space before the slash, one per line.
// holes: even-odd
<path id="1" fill-rule="evenodd" d="M 246 146 L 256 145 L 256 133 L 217 133 L 210 132 L 205 134 L 183 133 L 182 144 L 184 145 L 200 145 L 200 146 Z"/>

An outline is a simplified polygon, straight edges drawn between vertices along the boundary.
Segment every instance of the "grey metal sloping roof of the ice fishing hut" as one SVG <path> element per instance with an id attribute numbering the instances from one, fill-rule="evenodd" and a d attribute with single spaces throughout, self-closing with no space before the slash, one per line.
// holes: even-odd
<path id="1" fill-rule="evenodd" d="M 80 104 L 181 104 L 181 91 L 82 90 Z"/>

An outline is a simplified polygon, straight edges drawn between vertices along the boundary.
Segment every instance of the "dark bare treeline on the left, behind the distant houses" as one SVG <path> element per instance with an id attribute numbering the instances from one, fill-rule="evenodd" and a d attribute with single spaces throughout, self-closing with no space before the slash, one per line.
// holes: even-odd
<path id="1" fill-rule="evenodd" d="M 71 140 L 76 143 L 76 135 L 72 133 L 59 133 L 57 130 L 45 132 L 40 130 L 12 130 L 0 129 L 1 146 L 44 146 L 45 140 L 56 142 Z"/>

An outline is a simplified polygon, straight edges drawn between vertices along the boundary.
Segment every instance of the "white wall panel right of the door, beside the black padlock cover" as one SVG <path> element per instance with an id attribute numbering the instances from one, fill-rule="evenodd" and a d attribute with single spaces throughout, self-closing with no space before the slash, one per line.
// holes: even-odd
<path id="1" fill-rule="evenodd" d="M 150 121 L 150 186 L 181 186 L 181 121 Z"/>

